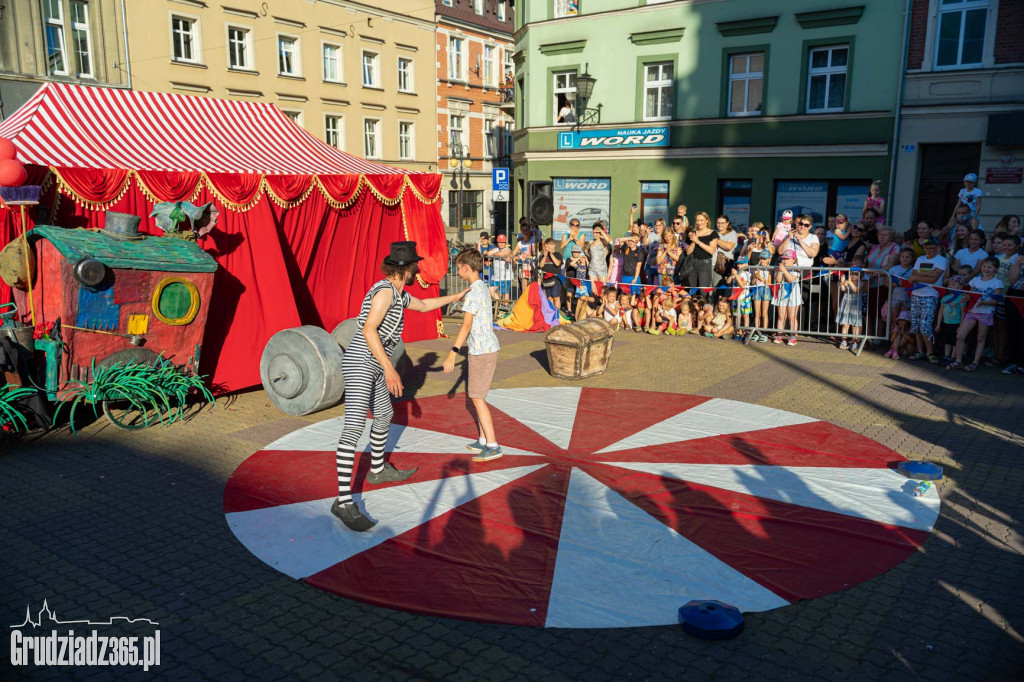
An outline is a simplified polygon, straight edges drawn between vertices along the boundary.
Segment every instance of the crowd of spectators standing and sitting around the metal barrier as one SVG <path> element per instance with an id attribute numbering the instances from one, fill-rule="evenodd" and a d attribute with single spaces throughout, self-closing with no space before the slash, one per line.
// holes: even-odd
<path id="1" fill-rule="evenodd" d="M 893 359 L 1024 374 L 1024 304 L 1014 302 L 1024 297 L 1020 218 L 985 230 L 981 201 L 972 173 L 941 226 L 883 224 L 885 200 L 872 183 L 857 220 L 840 213 L 814 225 L 785 211 L 772 227 L 737 230 L 727 215 L 699 211 L 691 220 L 681 205 L 669 221 L 646 224 L 634 205 L 618 237 L 599 221 L 587 239 L 572 219 L 567 232 L 545 239 L 522 220 L 515 244 L 482 233 L 477 246 L 497 298 L 509 298 L 513 279 L 520 291 L 537 281 L 569 318 L 788 345 L 814 333 L 842 349 L 887 347 Z"/>

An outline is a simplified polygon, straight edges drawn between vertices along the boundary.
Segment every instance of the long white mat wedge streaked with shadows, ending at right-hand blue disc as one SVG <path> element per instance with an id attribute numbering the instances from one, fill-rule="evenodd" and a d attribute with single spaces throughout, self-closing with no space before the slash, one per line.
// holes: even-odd
<path id="1" fill-rule="evenodd" d="M 912 492 L 918 481 L 910 482 L 892 469 L 763 464 L 607 464 L 919 530 L 931 530 L 939 516 L 940 500 L 935 487 L 924 497 L 915 498 Z"/>

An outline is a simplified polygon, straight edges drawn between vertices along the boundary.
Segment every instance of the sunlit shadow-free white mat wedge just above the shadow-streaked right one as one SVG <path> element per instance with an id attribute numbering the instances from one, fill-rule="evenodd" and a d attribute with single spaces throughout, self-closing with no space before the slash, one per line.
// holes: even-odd
<path id="1" fill-rule="evenodd" d="M 745 433 L 773 429 L 779 426 L 810 424 L 818 420 L 793 412 L 775 410 L 750 402 L 737 402 L 724 398 L 712 398 L 707 402 L 690 408 L 674 417 L 654 424 L 639 433 L 627 436 L 616 443 L 608 445 L 600 453 L 611 453 L 618 450 L 635 447 L 650 447 L 681 440 L 708 438 L 730 433 Z"/>

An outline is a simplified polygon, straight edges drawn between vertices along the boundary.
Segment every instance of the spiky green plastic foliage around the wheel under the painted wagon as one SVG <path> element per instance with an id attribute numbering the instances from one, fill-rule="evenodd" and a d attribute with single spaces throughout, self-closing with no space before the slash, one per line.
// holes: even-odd
<path id="1" fill-rule="evenodd" d="M 82 404 L 90 406 L 93 416 L 98 418 L 98 408 L 104 401 L 126 401 L 141 416 L 143 426 L 158 422 L 166 426 L 184 419 L 190 392 L 196 392 L 204 403 L 216 407 L 213 393 L 204 384 L 206 377 L 186 375 L 162 355 L 152 364 L 132 360 L 99 369 L 93 358 L 90 374 L 91 382 L 71 379 L 57 395 L 53 418 L 56 420 L 60 411 L 69 407 L 73 432 L 75 412 Z"/>

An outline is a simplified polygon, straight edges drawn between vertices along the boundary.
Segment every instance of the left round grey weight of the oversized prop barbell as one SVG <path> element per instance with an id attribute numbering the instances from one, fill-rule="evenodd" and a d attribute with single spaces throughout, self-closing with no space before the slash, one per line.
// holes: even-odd
<path id="1" fill-rule="evenodd" d="M 278 332 L 267 341 L 259 376 L 270 401 L 284 413 L 308 415 L 337 404 L 345 391 L 344 351 L 319 327 Z"/>

